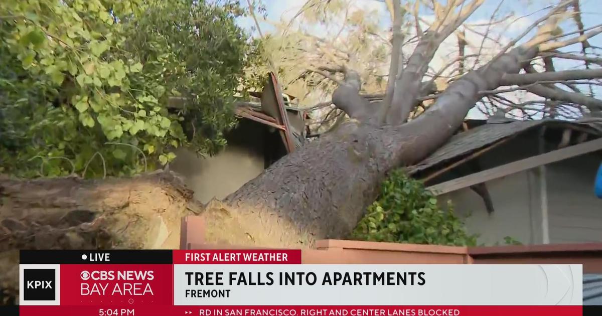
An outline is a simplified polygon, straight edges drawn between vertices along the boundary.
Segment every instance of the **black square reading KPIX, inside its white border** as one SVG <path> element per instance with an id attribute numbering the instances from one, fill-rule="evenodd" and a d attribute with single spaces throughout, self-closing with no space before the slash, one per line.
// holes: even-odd
<path id="1" fill-rule="evenodd" d="M 24 269 L 24 300 L 52 300 L 57 298 L 54 269 Z"/>

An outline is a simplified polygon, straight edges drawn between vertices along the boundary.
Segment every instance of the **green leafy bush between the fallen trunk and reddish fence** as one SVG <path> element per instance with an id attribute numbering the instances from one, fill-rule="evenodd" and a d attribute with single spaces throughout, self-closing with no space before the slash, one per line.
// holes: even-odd
<path id="1" fill-rule="evenodd" d="M 476 236 L 465 232 L 464 223 L 453 213 L 453 205 L 448 204 L 447 209 L 439 207 L 436 197 L 402 170 L 392 172 L 380 191 L 353 231 L 353 238 L 453 246 L 476 244 Z"/>

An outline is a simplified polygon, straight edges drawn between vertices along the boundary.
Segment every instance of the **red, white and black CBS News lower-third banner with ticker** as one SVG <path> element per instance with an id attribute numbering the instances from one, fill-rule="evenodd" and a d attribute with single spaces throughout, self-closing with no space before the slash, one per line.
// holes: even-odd
<path id="1" fill-rule="evenodd" d="M 299 250 L 20 255 L 19 306 L 3 316 L 602 315 L 583 306 L 582 265 L 315 265 Z"/>

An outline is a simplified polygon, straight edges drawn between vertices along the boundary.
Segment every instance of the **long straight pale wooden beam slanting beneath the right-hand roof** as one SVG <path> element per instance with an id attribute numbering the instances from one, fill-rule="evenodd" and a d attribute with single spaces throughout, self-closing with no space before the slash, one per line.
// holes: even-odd
<path id="1" fill-rule="evenodd" d="M 555 163 L 556 161 L 565 160 L 589 152 L 595 152 L 600 149 L 602 149 L 602 138 L 542 153 L 541 155 L 532 156 L 523 160 L 514 161 L 513 163 L 504 164 L 503 166 L 473 173 L 472 175 L 442 182 L 440 184 L 432 185 L 428 187 L 428 189 L 433 191 L 436 195 L 444 194 L 461 188 L 470 187 L 471 185 L 501 178 L 503 176 L 512 175 L 513 173 L 533 169 L 545 164 Z"/>

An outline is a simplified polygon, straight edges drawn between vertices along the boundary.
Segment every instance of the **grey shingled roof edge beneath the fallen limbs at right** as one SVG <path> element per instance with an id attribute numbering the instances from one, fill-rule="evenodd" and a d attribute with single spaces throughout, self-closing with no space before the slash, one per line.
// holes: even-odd
<path id="1" fill-rule="evenodd" d="M 504 138 L 512 137 L 522 132 L 526 132 L 529 129 L 535 128 L 536 126 L 543 125 L 555 125 L 564 128 L 579 129 L 580 131 L 585 131 L 594 135 L 602 134 L 601 129 L 595 127 L 595 125 L 569 122 L 565 120 L 517 120 L 504 123 L 488 123 L 454 135 L 449 141 L 447 141 L 446 144 L 433 152 L 426 159 L 418 164 L 415 164 L 414 166 L 407 167 L 406 170 L 409 174 L 414 174 L 438 164 L 453 160 L 456 157 L 474 152 Z"/>

